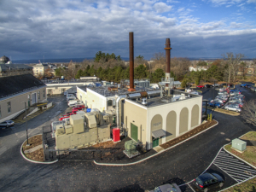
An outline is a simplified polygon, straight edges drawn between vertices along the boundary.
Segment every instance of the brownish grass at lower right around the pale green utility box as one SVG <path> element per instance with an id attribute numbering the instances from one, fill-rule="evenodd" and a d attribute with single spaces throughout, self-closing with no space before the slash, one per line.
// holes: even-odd
<path id="1" fill-rule="evenodd" d="M 241 139 L 244 140 L 253 140 L 256 141 L 256 131 L 250 131 Z M 236 150 L 233 150 L 231 148 L 231 145 L 226 145 L 225 149 L 230 151 L 230 153 L 235 154 L 236 156 L 240 157 L 242 160 L 246 160 L 248 163 L 252 164 L 253 166 L 256 166 L 256 146 L 247 146 L 247 151 L 240 154 Z M 224 190 L 225 192 L 256 192 L 256 177 L 253 179 L 248 180 L 245 183 L 241 183 L 239 185 L 236 185 L 233 188 Z"/>

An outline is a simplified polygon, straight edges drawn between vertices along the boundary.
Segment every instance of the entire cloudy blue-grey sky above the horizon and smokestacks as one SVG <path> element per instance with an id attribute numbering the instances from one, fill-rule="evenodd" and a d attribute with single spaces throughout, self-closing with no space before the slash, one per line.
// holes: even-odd
<path id="1" fill-rule="evenodd" d="M 0 0 L 0 56 L 86 58 L 101 50 L 146 59 L 256 57 L 256 0 Z"/>

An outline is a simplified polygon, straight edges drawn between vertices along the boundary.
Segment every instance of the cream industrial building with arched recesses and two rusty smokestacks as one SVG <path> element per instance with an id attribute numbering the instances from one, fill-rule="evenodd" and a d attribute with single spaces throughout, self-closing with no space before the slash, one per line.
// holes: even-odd
<path id="1" fill-rule="evenodd" d="M 150 149 L 179 137 L 201 125 L 202 96 L 172 90 L 180 82 L 170 78 L 170 39 L 166 39 L 166 77 L 160 90 L 134 86 L 133 37 L 130 44 L 130 89 L 120 86 L 79 87 L 77 96 L 88 108 L 112 110 L 117 127 L 143 148 Z"/>

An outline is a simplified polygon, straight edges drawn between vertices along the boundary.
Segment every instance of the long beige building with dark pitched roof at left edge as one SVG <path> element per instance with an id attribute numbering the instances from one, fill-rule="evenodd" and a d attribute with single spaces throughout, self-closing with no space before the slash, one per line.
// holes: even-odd
<path id="1" fill-rule="evenodd" d="M 32 74 L 0 78 L 0 122 L 15 118 L 26 108 L 47 99 L 46 85 Z"/>

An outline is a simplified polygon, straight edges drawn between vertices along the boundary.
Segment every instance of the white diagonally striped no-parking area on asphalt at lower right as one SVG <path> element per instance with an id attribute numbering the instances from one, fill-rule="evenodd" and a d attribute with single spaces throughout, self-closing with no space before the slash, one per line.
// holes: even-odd
<path id="1" fill-rule="evenodd" d="M 219 152 L 213 164 L 238 183 L 256 175 L 256 170 L 252 166 L 236 159 L 233 155 L 225 152 L 224 149 Z"/>

